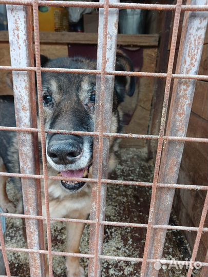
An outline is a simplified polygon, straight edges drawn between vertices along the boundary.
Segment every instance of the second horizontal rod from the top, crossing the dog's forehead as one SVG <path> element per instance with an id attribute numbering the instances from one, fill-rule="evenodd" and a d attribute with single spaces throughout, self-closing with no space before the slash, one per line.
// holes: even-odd
<path id="1" fill-rule="evenodd" d="M 36 71 L 36 67 L 0 66 L 0 70 Z M 100 75 L 101 74 L 101 70 L 92 70 L 92 69 L 42 67 L 41 71 L 42 72 L 71 73 L 71 74 L 92 74 L 92 75 Z M 106 75 L 136 76 L 136 77 L 157 77 L 157 78 L 166 78 L 167 77 L 167 73 L 141 72 L 141 71 L 117 71 L 117 70 L 106 70 Z M 198 80 L 198 81 L 208 81 L 208 76 L 207 75 L 172 74 L 172 78 L 175 78 L 175 79 L 190 79 L 190 80 Z"/>

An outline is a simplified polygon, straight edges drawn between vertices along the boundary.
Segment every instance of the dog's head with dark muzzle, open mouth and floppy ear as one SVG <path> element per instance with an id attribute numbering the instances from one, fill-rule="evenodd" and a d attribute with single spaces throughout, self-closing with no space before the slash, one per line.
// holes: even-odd
<path id="1" fill-rule="evenodd" d="M 42 57 L 42 60 L 43 67 L 96 69 L 96 61 L 81 57 L 55 60 Z M 133 70 L 133 67 L 127 57 L 119 54 L 116 70 Z M 42 87 L 47 129 L 94 131 L 96 75 L 43 72 Z M 134 78 L 115 77 L 114 132 L 120 128 L 118 106 L 124 101 L 125 94 L 133 95 L 134 88 Z M 48 133 L 46 151 L 48 163 L 58 175 L 63 176 L 61 185 L 69 192 L 79 191 L 84 182 L 65 181 L 64 177 L 88 177 L 92 165 L 93 137 Z"/>

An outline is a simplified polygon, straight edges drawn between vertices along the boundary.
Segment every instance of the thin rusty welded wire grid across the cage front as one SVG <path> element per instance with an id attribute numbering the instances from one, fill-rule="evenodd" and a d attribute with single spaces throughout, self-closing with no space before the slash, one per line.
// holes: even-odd
<path id="1" fill-rule="evenodd" d="M 163 184 L 158 182 L 159 176 L 159 168 L 160 168 L 160 158 L 162 153 L 162 145 L 165 141 L 175 141 L 175 142 L 198 142 L 198 143 L 208 143 L 208 138 L 195 138 L 195 137 L 177 137 L 177 136 L 166 136 L 164 134 L 165 123 L 167 117 L 167 107 L 168 107 L 168 97 L 170 91 L 170 85 L 172 79 L 188 79 L 188 80 L 202 80 L 208 81 L 207 75 L 188 75 L 188 74 L 173 74 L 173 62 L 175 57 L 176 50 L 176 39 L 178 35 L 179 28 L 179 18 L 181 11 L 208 11 L 208 5 L 182 5 L 182 0 L 178 0 L 176 5 L 160 5 L 160 4 L 127 4 L 127 3 L 109 3 L 108 0 L 105 0 L 104 3 L 93 3 L 93 2 L 63 2 L 63 1 L 40 1 L 40 0 L 0 0 L 0 4 L 9 4 L 9 5 L 25 5 L 32 6 L 33 8 L 33 21 L 34 21 L 34 43 L 35 43 L 35 60 L 36 67 L 12 67 L 12 66 L 0 66 L 0 70 L 14 70 L 14 71 L 33 71 L 36 72 L 37 78 L 37 91 L 38 91 L 38 103 L 39 103 L 39 114 L 40 114 L 40 128 L 18 128 L 18 127 L 3 127 L 0 126 L 1 130 L 7 131 L 17 131 L 17 132 L 34 132 L 41 134 L 41 142 L 42 142 L 42 156 L 43 156 L 43 174 L 18 174 L 18 173 L 6 173 L 0 172 L 0 176 L 12 176 L 12 177 L 21 177 L 22 179 L 43 179 L 44 180 L 44 192 L 45 192 L 45 203 L 46 203 L 46 216 L 42 215 L 28 215 L 28 214 L 13 214 L 13 213 L 0 213 L 0 215 L 5 217 L 18 217 L 24 219 L 36 219 L 36 220 L 45 220 L 47 226 L 47 241 L 48 241 L 48 250 L 41 249 L 27 249 L 27 248 L 14 248 L 14 247 L 6 247 L 4 243 L 3 230 L 0 221 L 0 249 L 3 252 L 3 258 L 6 267 L 7 276 L 11 276 L 9 263 L 7 258 L 7 251 L 17 251 L 17 252 L 28 252 L 28 253 L 40 253 L 47 254 L 49 261 L 49 275 L 52 276 L 52 255 L 63 255 L 63 256 L 74 256 L 80 258 L 88 258 L 94 259 L 94 276 L 98 276 L 98 260 L 107 259 L 107 260 L 117 260 L 117 261 L 131 261 L 131 262 L 142 262 L 141 276 L 145 275 L 145 270 L 147 263 L 155 263 L 158 261 L 157 259 L 148 259 L 148 248 L 150 243 L 150 235 L 153 229 L 164 229 L 164 230 L 185 230 L 185 231 L 195 231 L 197 232 L 193 254 L 191 261 L 195 262 L 196 254 L 199 248 L 199 242 L 201 239 L 202 232 L 208 232 L 208 228 L 204 227 L 205 216 L 207 214 L 208 209 L 208 186 L 195 186 L 195 185 L 183 185 L 183 184 Z M 104 8 L 104 36 L 107 34 L 107 18 L 108 11 L 110 8 L 118 8 L 118 9 L 145 9 L 145 10 L 173 10 L 175 11 L 174 18 L 174 26 L 173 26 L 173 34 L 172 34 L 172 43 L 171 43 L 171 52 L 169 55 L 168 61 L 168 69 L 167 73 L 149 73 L 149 72 L 123 72 L 123 71 L 107 71 L 105 69 L 105 59 L 106 59 L 106 43 L 103 44 L 103 63 L 101 70 L 78 70 L 78 69 L 63 69 L 63 68 L 41 68 L 40 63 L 40 37 L 39 37 L 39 16 L 38 16 L 38 7 L 39 6 L 53 6 L 53 7 L 93 7 L 93 8 Z M 104 37 L 105 39 L 105 37 Z M 164 102 L 163 102 L 163 111 L 161 117 L 161 126 L 159 135 L 140 135 L 140 134 L 118 134 L 118 133 L 109 133 L 103 131 L 102 122 L 100 122 L 100 129 L 98 132 L 82 132 L 82 131 L 66 131 L 66 130 L 45 130 L 44 128 L 44 111 L 42 106 L 42 82 L 41 82 L 41 72 L 65 72 L 65 73 L 77 73 L 77 74 L 97 74 L 101 75 L 101 80 L 104 80 L 105 75 L 128 75 L 128 76 L 138 76 L 138 77 L 159 77 L 166 78 L 166 86 L 164 93 Z M 102 79 L 103 78 L 103 79 Z M 102 83 L 102 82 L 101 82 Z M 104 84 L 101 84 L 101 93 L 102 96 L 105 96 Z M 100 114 L 103 114 L 103 110 L 101 109 Z M 102 120 L 102 116 L 100 117 Z M 75 219 L 65 219 L 65 218 L 52 218 L 49 214 L 49 195 L 48 195 L 48 180 L 61 180 L 62 177 L 59 176 L 48 176 L 47 171 L 47 161 L 46 161 L 46 141 L 45 134 L 46 133 L 63 133 L 63 134 L 74 134 L 74 135 L 90 135 L 99 138 L 99 156 L 102 157 L 103 153 L 103 138 L 104 137 L 131 137 L 135 139 L 145 139 L 145 140 L 157 140 L 158 141 L 158 149 L 156 156 L 156 164 L 155 164 L 155 172 L 154 172 L 154 180 L 153 183 L 147 182 L 130 182 L 130 181 L 117 181 L 117 180 L 107 180 L 102 179 L 102 166 L 99 168 L 98 178 L 95 179 L 82 179 L 82 178 L 68 178 L 66 180 L 71 181 L 86 181 L 97 184 L 97 195 L 100 195 L 101 184 L 114 184 L 114 185 L 135 185 L 135 186 L 144 186 L 152 188 L 152 198 L 150 202 L 150 210 L 149 210 L 149 220 L 148 224 L 133 224 L 133 223 L 125 223 L 125 222 L 106 222 L 100 220 L 100 202 L 97 201 L 96 207 L 96 220 L 75 220 Z M 23 146 L 24 147 L 24 146 Z M 102 164 L 102 163 L 101 163 Z M 93 165 L 93 170 L 95 170 L 95 165 Z M 170 225 L 155 225 L 153 224 L 153 218 L 155 213 L 155 203 L 156 203 L 156 191 L 157 188 L 179 188 L 179 189 L 193 189 L 193 190 L 206 190 L 206 197 L 204 201 L 203 211 L 201 214 L 201 220 L 199 227 L 185 227 L 185 226 L 170 226 Z M 80 222 L 86 223 L 90 225 L 96 225 L 97 235 L 96 235 L 96 244 L 97 247 L 95 252 L 92 254 L 84 254 L 84 253 L 68 253 L 68 252 L 58 252 L 51 250 L 51 231 L 50 231 L 50 221 L 59 221 L 59 222 Z M 99 226 L 120 226 L 120 227 L 136 227 L 136 228 L 146 228 L 146 241 L 143 258 L 131 258 L 131 257 L 122 257 L 122 256 L 108 256 L 102 255 L 98 253 L 98 243 L 99 243 L 99 234 L 98 229 Z M 103 242 L 100 242 L 101 245 Z M 172 263 L 172 261 L 166 261 L 167 264 Z M 184 262 L 184 261 L 178 261 Z M 202 261 L 202 266 L 208 267 L 207 260 L 205 262 Z M 192 269 L 189 268 L 187 272 L 187 277 L 190 277 L 192 274 Z"/>

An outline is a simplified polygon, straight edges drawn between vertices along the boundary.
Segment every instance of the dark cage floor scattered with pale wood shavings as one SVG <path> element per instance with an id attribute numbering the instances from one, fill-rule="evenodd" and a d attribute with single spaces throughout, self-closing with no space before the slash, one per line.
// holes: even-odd
<path id="1" fill-rule="evenodd" d="M 154 166 L 145 160 L 145 149 L 121 149 L 117 153 L 119 163 L 111 174 L 111 179 L 152 182 Z M 151 189 L 135 186 L 108 185 L 106 220 L 117 222 L 147 223 L 151 197 Z M 176 216 L 172 212 L 170 224 L 177 225 Z M 145 243 L 145 228 L 105 227 L 103 253 L 116 256 L 143 256 Z M 8 247 L 26 247 L 22 232 L 22 220 L 7 219 L 7 232 L 5 236 Z M 53 250 L 64 251 L 65 227 L 63 223 L 54 223 L 52 226 Z M 89 253 L 89 226 L 85 226 L 81 242 L 81 252 Z M 28 254 L 9 252 L 9 263 L 13 276 L 29 276 Z M 166 235 L 163 257 L 176 260 L 190 259 L 190 251 L 184 234 L 169 230 Z M 65 277 L 65 258 L 53 257 L 54 277 Z M 87 276 L 88 260 L 81 259 Z M 141 263 L 123 261 L 105 261 L 102 263 L 102 277 L 139 277 Z M 197 275 L 197 272 L 195 272 Z M 160 277 L 183 277 L 183 269 L 161 269 Z"/>

